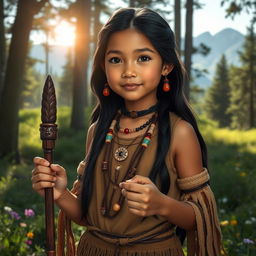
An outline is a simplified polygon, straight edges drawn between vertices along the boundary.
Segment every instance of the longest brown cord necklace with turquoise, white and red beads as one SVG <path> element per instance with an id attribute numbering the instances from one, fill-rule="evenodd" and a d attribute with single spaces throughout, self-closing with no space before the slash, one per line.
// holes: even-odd
<path id="1" fill-rule="evenodd" d="M 112 167 L 112 154 L 113 154 L 113 131 L 116 126 L 117 120 L 120 118 L 121 113 L 118 112 L 116 117 L 113 119 L 105 139 L 105 155 L 102 161 L 102 172 L 104 177 L 104 196 L 101 202 L 101 214 L 107 218 L 115 217 L 120 211 L 124 197 L 119 188 L 118 178 L 120 174 L 120 166 L 115 168 L 114 179 L 111 178 L 111 167 Z M 157 122 L 157 113 L 152 117 L 152 123 L 146 130 L 145 135 L 142 137 L 141 142 L 138 144 L 135 152 L 132 155 L 131 161 L 128 165 L 128 168 L 124 174 L 124 177 L 121 181 L 131 179 L 136 175 L 137 166 L 140 163 L 141 157 L 145 152 L 146 148 L 149 146 L 151 141 L 151 136 L 154 132 L 156 122 Z M 118 193 L 118 199 L 116 202 L 113 202 L 115 193 Z"/>

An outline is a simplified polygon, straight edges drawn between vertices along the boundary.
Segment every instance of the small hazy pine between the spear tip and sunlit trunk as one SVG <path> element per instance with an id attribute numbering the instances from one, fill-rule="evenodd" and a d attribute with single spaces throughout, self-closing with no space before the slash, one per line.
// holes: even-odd
<path id="1" fill-rule="evenodd" d="M 72 78 L 73 78 L 72 50 L 69 48 L 67 62 L 63 67 L 63 75 L 59 85 L 59 104 L 71 107 L 72 105 Z"/>

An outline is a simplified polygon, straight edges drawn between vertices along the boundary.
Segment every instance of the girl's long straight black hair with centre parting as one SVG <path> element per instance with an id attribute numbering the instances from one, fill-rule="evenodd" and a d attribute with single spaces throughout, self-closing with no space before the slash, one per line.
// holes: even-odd
<path id="1" fill-rule="evenodd" d="M 154 48 L 160 54 L 163 63 L 173 64 L 173 70 L 168 74 L 171 83 L 171 90 L 166 93 L 162 91 L 163 77 L 161 78 L 157 98 L 159 102 L 159 129 L 158 146 L 156 161 L 151 169 L 149 178 L 155 182 L 159 176 L 161 180 L 161 192 L 167 194 L 170 188 L 170 177 L 165 164 L 165 157 L 170 144 L 170 120 L 169 112 L 174 112 L 185 121 L 189 122 L 198 137 L 203 166 L 208 168 L 207 148 L 205 142 L 198 130 L 196 119 L 192 113 L 191 107 L 183 93 L 184 69 L 176 52 L 175 37 L 168 23 L 156 12 L 148 8 L 122 8 L 117 10 L 108 22 L 103 26 L 99 33 L 97 49 L 94 55 L 94 63 L 91 77 L 92 91 L 97 97 L 97 105 L 92 113 L 91 122 L 96 122 L 93 144 L 88 158 L 83 186 L 81 191 L 82 213 L 87 215 L 90 199 L 92 195 L 92 186 L 94 180 L 94 167 L 102 146 L 105 135 L 114 118 L 117 110 L 124 104 L 123 98 L 111 91 L 108 97 L 102 94 L 105 83 L 107 82 L 104 69 L 105 51 L 110 36 L 118 31 L 134 28 L 145 35 Z"/>

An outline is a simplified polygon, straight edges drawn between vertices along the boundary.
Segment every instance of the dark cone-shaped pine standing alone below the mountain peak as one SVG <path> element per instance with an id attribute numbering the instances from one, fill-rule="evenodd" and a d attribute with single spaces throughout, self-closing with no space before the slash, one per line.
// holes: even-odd
<path id="1" fill-rule="evenodd" d="M 212 86 L 208 89 L 205 107 L 209 118 L 219 122 L 220 127 L 229 126 L 231 115 L 227 112 L 230 105 L 230 85 L 228 64 L 225 55 L 222 55 L 216 66 Z"/>

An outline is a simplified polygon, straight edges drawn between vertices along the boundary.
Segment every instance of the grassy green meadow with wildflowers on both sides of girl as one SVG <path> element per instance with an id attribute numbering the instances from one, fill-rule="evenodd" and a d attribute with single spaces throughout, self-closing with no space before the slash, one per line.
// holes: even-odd
<path id="1" fill-rule="evenodd" d="M 84 158 L 87 127 L 70 129 L 70 109 L 58 110 L 58 140 L 54 162 L 65 167 L 69 188 Z M 0 255 L 44 254 L 44 201 L 31 188 L 32 159 L 42 156 L 39 135 L 40 109 L 20 111 L 21 163 L 0 160 Z M 219 129 L 217 123 L 198 116 L 208 147 L 211 186 L 218 204 L 224 247 L 230 256 L 256 255 L 256 129 Z M 56 215 L 58 209 L 55 208 Z M 74 225 L 76 239 L 83 228 Z"/>

